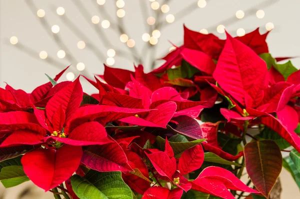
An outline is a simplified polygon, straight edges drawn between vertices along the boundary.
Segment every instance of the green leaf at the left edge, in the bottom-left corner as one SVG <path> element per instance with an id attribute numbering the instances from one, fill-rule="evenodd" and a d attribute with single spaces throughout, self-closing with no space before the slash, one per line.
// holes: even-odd
<path id="1" fill-rule="evenodd" d="M 4 187 L 9 188 L 28 181 L 29 178 L 24 173 L 23 166 L 5 166 L 1 168 L 0 180 Z"/>

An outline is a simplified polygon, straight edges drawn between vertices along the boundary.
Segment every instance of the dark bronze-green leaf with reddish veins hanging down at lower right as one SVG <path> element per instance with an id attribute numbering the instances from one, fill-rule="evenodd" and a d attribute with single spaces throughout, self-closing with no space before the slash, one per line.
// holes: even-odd
<path id="1" fill-rule="evenodd" d="M 279 146 L 273 140 L 249 142 L 244 147 L 244 158 L 251 181 L 268 198 L 282 168 Z"/>

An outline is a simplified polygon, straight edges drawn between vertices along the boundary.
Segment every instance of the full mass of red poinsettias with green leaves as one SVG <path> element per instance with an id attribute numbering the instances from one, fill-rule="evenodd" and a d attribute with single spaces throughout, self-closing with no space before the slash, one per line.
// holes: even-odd
<path id="1" fill-rule="evenodd" d="M 31 180 L 56 199 L 275 198 L 283 166 L 300 187 L 300 71 L 271 56 L 267 34 L 184 26 L 183 45 L 149 73 L 82 76 L 91 95 L 80 76 L 57 83 L 67 68 L 31 93 L 7 84 L 2 184 Z"/>

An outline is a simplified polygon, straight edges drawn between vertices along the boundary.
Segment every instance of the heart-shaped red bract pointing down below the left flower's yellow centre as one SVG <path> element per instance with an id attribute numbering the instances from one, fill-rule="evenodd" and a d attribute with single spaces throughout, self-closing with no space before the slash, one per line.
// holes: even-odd
<path id="1" fill-rule="evenodd" d="M 21 158 L 24 172 L 29 179 L 45 191 L 67 180 L 79 166 L 80 146 L 64 145 L 61 148 L 39 148 Z"/>

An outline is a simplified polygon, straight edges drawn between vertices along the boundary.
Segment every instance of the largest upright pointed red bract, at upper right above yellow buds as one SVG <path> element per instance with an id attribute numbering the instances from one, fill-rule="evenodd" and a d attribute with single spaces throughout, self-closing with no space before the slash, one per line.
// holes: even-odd
<path id="1" fill-rule="evenodd" d="M 255 107 L 262 100 L 267 86 L 266 71 L 266 63 L 254 51 L 227 33 L 224 49 L 213 72 L 222 89 L 242 105 Z"/>

